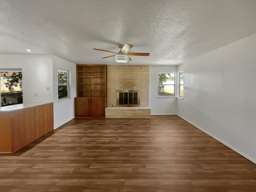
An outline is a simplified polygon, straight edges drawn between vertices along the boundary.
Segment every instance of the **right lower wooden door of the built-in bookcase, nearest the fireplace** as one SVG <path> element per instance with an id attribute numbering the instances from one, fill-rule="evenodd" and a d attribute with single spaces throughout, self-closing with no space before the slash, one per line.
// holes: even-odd
<path id="1" fill-rule="evenodd" d="M 91 98 L 90 115 L 100 116 L 100 117 L 105 116 L 105 99 L 104 98 Z"/>

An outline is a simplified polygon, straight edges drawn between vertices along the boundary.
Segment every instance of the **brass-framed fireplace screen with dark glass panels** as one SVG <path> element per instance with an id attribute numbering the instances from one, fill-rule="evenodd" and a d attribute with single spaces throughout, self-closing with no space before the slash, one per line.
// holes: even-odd
<path id="1" fill-rule="evenodd" d="M 140 90 L 117 90 L 116 91 L 117 106 L 140 106 Z"/>

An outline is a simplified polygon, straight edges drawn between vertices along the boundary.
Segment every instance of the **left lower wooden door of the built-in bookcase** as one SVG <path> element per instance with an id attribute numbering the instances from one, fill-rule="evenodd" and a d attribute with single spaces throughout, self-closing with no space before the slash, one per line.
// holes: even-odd
<path id="1" fill-rule="evenodd" d="M 90 99 L 75 98 L 75 116 L 90 116 Z"/>

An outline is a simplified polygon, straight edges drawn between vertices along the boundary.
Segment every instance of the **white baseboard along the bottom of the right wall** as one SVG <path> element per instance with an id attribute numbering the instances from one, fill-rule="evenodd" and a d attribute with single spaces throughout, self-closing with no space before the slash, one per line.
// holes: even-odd
<path id="1" fill-rule="evenodd" d="M 230 149 L 234 150 L 235 152 L 239 153 L 240 155 L 244 156 L 246 159 L 250 160 L 251 162 L 256 164 L 256 160 L 246 154 L 244 154 L 242 151 L 238 150 L 237 148 L 233 147 L 232 145 L 224 142 L 223 140 L 221 140 L 220 138 L 214 136 L 213 134 L 209 133 L 208 131 L 204 130 L 203 128 L 201 128 L 200 126 L 197 126 L 196 124 L 194 124 L 193 122 L 190 122 L 190 120 L 187 120 L 186 118 L 184 118 L 183 116 L 178 115 L 180 118 L 184 119 L 185 121 L 189 122 L 190 124 L 194 125 L 196 128 L 200 129 L 201 131 L 205 132 L 206 134 L 208 134 L 209 136 L 211 136 L 212 138 L 218 140 L 219 142 L 221 142 L 222 144 L 226 145 L 227 147 L 229 147 Z"/>

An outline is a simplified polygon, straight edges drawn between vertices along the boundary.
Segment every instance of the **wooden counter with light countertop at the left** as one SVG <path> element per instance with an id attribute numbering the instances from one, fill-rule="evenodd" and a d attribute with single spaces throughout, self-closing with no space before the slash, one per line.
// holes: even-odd
<path id="1" fill-rule="evenodd" d="M 53 130 L 53 104 L 0 107 L 0 153 L 13 153 Z"/>

